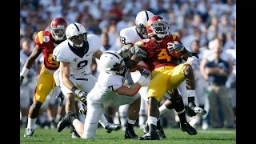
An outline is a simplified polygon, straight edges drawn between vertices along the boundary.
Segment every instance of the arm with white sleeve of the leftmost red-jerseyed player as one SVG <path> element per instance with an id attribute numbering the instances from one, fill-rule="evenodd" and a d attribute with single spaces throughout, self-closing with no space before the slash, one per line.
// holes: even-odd
<path id="1" fill-rule="evenodd" d="M 38 58 L 39 54 L 42 53 L 42 50 L 39 48 L 38 45 L 34 46 L 34 50 L 30 54 L 29 58 L 27 58 L 23 68 L 22 72 L 20 73 L 20 84 L 22 84 L 23 78 L 26 77 L 26 74 L 30 71 L 30 68 L 33 66 L 34 61 Z"/>

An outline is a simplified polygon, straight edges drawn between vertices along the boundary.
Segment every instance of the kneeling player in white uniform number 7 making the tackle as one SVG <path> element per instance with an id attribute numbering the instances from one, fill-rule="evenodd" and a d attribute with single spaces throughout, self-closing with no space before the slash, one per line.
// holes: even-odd
<path id="1" fill-rule="evenodd" d="M 114 50 L 105 51 L 100 57 L 99 66 L 102 70 L 98 75 L 98 81 L 87 95 L 87 114 L 85 123 L 83 124 L 78 118 L 75 118 L 73 111 L 69 111 L 66 116 L 62 118 L 62 121 L 58 123 L 58 130 L 61 131 L 65 126 L 72 123 L 81 138 L 94 138 L 98 127 L 98 120 L 102 117 L 102 114 L 107 107 L 130 104 L 125 138 L 138 138 L 137 134 L 134 133 L 133 127 L 138 118 L 141 101 L 138 90 L 150 75 L 149 71 L 140 69 L 141 78 L 139 78 L 138 82 L 135 82 L 134 85 L 127 87 L 123 85 L 123 83 L 127 78 L 128 69 L 126 63 L 118 52 Z M 91 86 L 93 86 L 93 84 L 91 84 Z M 70 86 L 70 88 L 71 87 L 72 86 Z M 73 88 L 73 91 L 76 90 L 78 89 Z M 63 93 L 66 94 L 64 91 Z M 83 92 L 79 90 L 78 95 L 86 97 L 86 94 L 82 93 Z"/>

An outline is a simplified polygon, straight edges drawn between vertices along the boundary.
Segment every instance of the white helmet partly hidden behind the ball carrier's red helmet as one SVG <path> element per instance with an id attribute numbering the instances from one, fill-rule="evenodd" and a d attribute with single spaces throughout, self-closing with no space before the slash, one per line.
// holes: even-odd
<path id="1" fill-rule="evenodd" d="M 143 10 L 139 12 L 135 18 L 135 26 L 138 33 L 142 34 L 143 38 L 148 38 L 148 34 L 146 32 L 146 22 L 154 16 L 148 10 Z"/>

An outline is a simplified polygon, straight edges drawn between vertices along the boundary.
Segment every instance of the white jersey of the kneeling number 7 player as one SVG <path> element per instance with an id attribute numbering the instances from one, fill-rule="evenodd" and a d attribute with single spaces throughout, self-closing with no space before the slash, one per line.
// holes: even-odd
<path id="1" fill-rule="evenodd" d="M 119 87 L 123 85 L 128 76 L 128 71 L 123 76 L 118 74 L 108 74 L 102 70 L 98 75 L 98 80 L 90 93 L 87 95 L 93 102 L 103 103 L 111 99 Z"/>

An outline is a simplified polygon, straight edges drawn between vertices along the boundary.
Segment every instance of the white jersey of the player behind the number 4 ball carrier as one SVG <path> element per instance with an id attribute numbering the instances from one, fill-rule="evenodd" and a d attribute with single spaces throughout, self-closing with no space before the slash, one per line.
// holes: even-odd
<path id="1" fill-rule="evenodd" d="M 142 34 L 136 31 L 136 26 L 120 30 L 120 42 L 123 45 L 133 44 L 144 39 Z"/>

